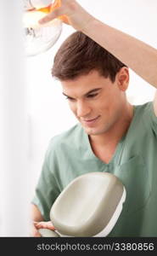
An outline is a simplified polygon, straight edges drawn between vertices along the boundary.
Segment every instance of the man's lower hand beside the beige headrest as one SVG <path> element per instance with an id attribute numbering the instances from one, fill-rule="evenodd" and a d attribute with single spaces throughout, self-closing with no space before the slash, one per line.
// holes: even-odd
<path id="1" fill-rule="evenodd" d="M 55 230 L 51 221 L 40 221 L 40 222 L 35 221 L 32 224 L 31 236 L 40 237 L 41 234 L 38 232 L 39 229 Z"/>

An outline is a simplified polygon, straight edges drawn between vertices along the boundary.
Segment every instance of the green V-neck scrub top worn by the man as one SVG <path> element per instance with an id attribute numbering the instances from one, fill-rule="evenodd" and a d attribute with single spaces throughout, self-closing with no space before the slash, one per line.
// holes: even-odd
<path id="1" fill-rule="evenodd" d="M 59 193 L 87 172 L 111 172 L 126 187 L 121 216 L 109 236 L 157 236 L 157 117 L 152 102 L 134 106 L 132 123 L 109 164 L 93 154 L 80 124 L 53 137 L 32 201 L 45 220 Z"/>

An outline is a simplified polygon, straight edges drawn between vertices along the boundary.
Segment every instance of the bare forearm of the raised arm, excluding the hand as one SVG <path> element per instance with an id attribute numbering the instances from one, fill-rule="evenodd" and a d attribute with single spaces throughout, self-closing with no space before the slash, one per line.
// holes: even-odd
<path id="1" fill-rule="evenodd" d="M 157 88 L 157 49 L 96 19 L 82 32 Z"/>

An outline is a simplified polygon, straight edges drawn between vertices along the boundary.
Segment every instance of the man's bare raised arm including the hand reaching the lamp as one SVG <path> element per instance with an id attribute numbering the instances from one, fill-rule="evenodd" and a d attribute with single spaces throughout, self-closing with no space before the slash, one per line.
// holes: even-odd
<path id="1" fill-rule="evenodd" d="M 92 38 L 157 88 L 157 49 L 97 20 L 75 0 L 56 2 L 60 7 L 53 9 L 42 21 L 47 22 L 60 15 L 66 15 L 71 26 Z"/>

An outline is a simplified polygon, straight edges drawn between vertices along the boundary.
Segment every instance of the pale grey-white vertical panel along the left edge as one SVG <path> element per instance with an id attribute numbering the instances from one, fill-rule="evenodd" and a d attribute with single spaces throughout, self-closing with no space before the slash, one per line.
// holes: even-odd
<path id="1" fill-rule="evenodd" d="M 0 236 L 28 236 L 28 156 L 22 2 L 0 1 Z"/>

